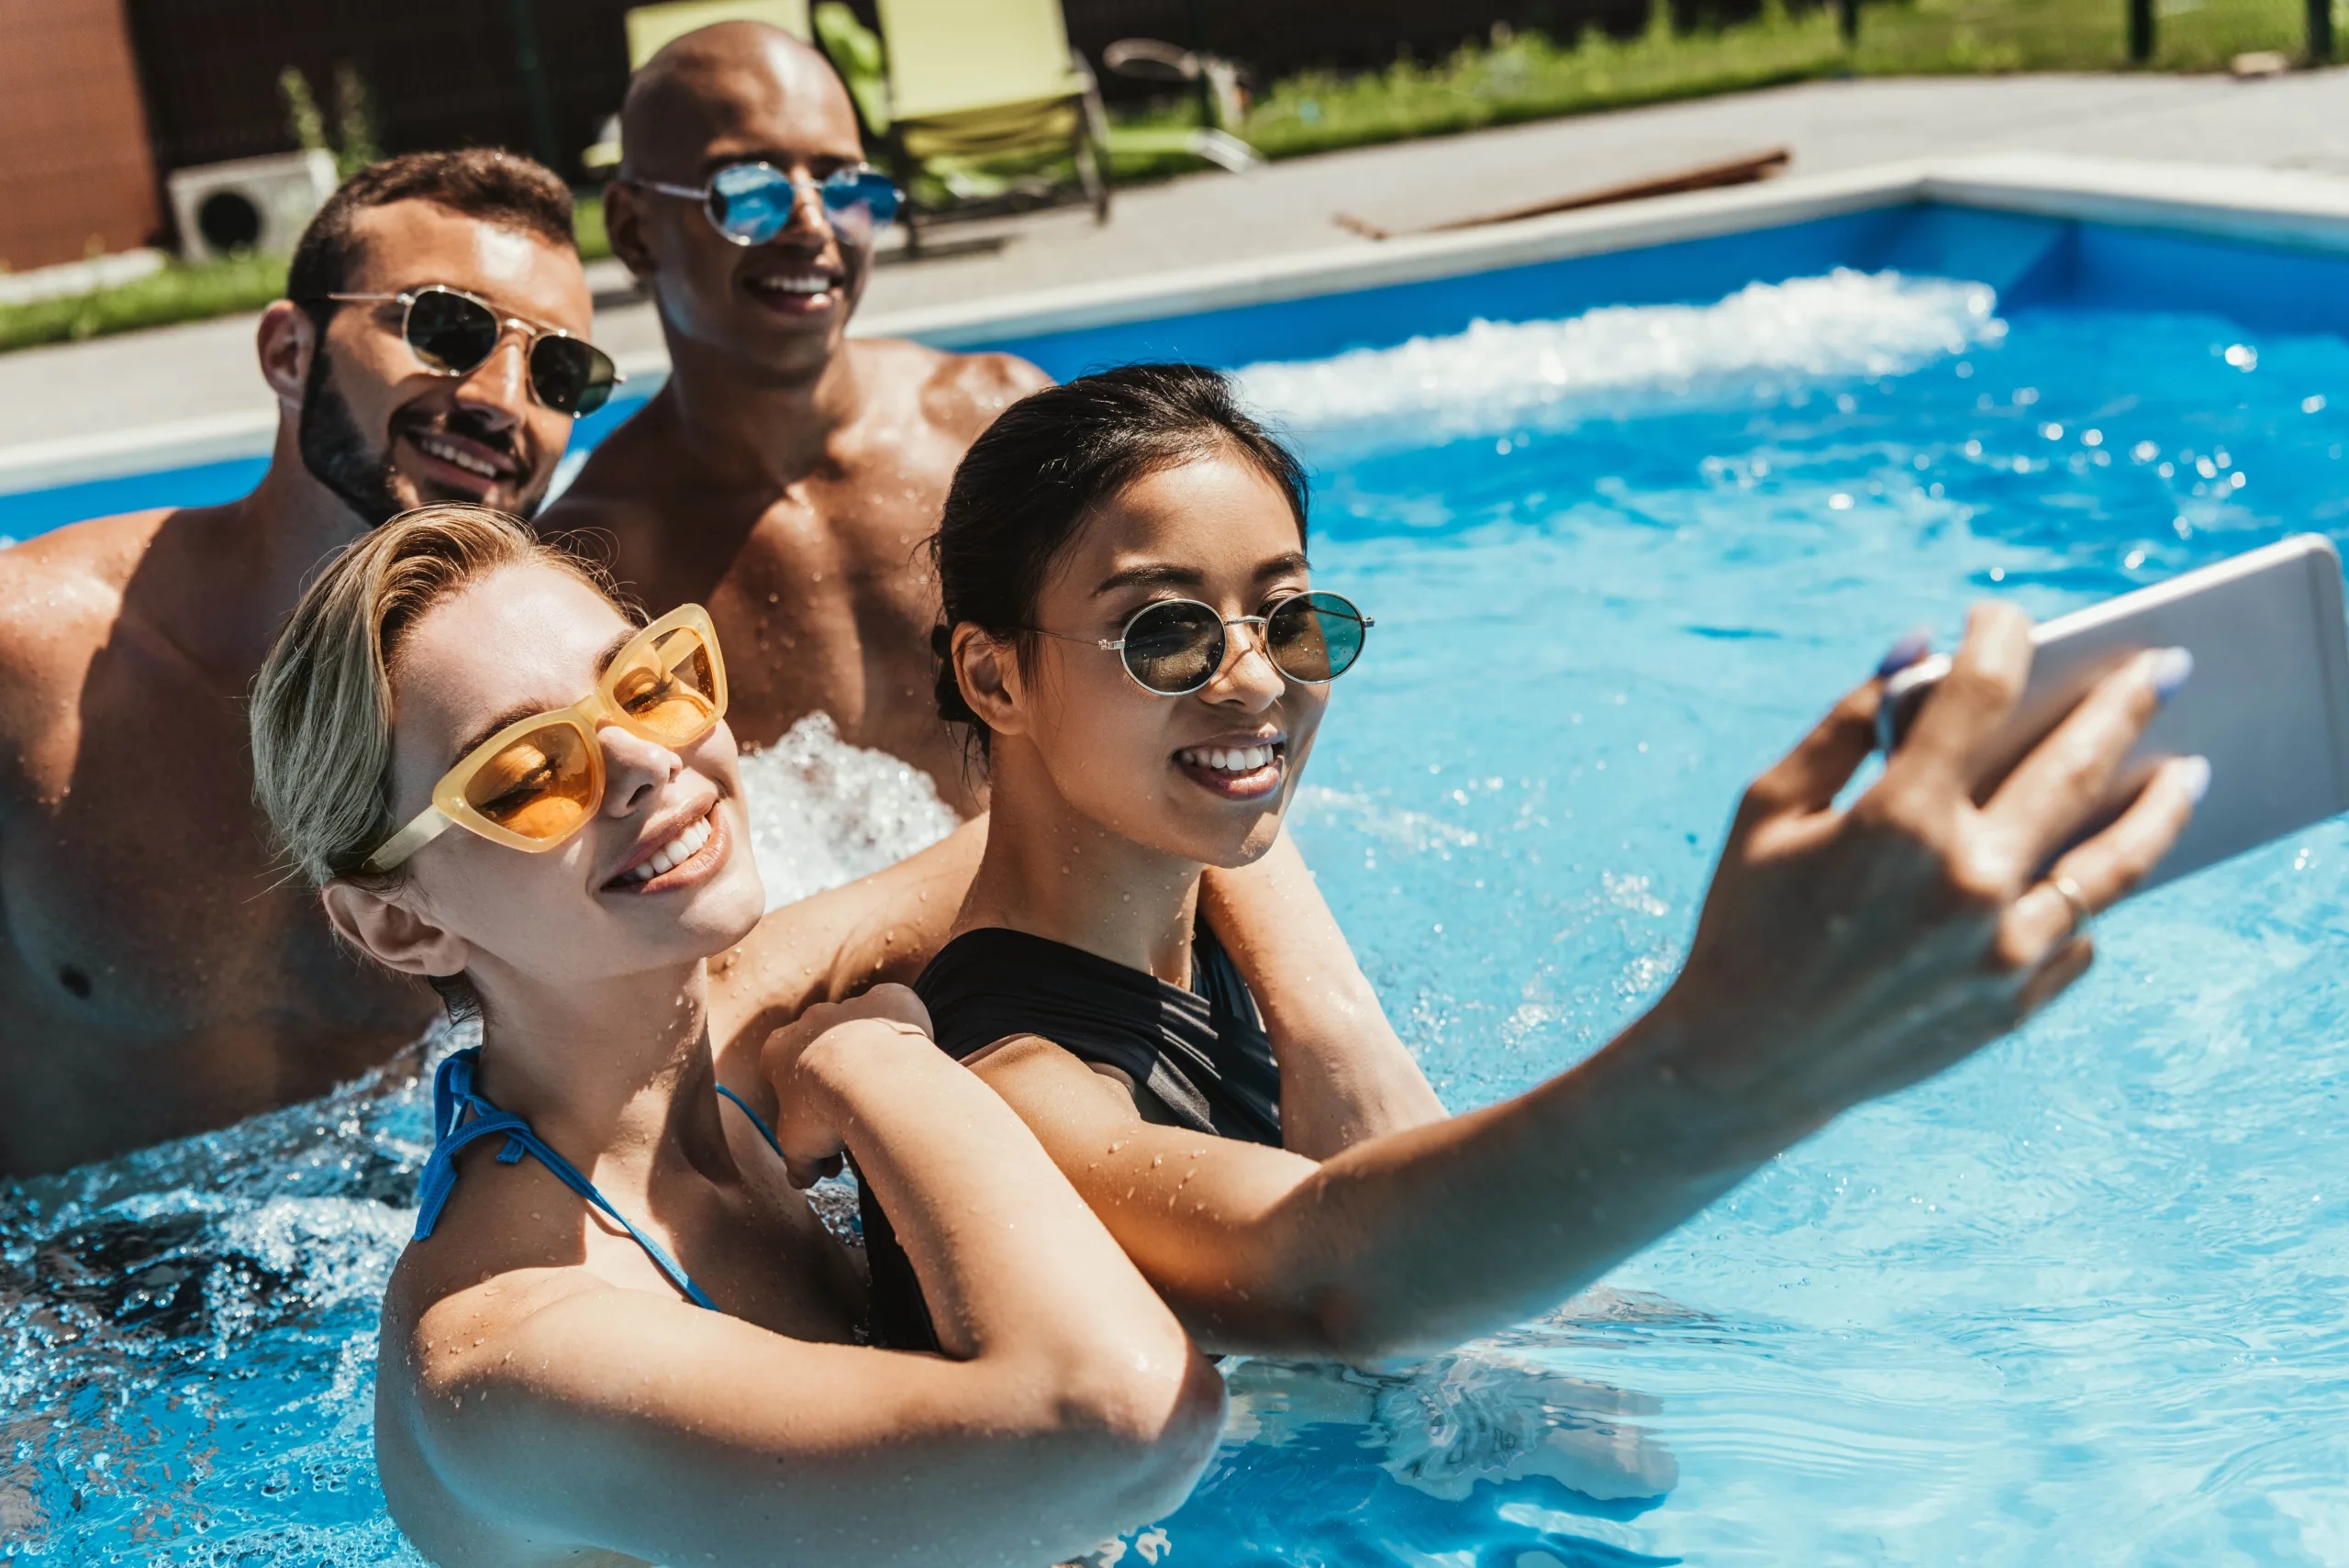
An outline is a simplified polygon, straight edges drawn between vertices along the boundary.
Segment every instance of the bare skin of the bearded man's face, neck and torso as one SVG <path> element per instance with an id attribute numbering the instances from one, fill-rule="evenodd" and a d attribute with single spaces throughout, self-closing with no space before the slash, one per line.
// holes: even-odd
<path id="1" fill-rule="evenodd" d="M 423 202 L 364 211 L 357 230 L 348 291 L 442 282 L 590 329 L 568 246 Z M 571 437 L 531 399 L 514 336 L 465 378 L 416 361 L 397 305 L 343 305 L 327 345 L 395 500 L 526 509 Z M 301 584 L 364 530 L 298 455 L 310 322 L 272 305 L 258 350 L 280 432 L 251 495 L 0 552 L 0 1174 L 310 1099 L 437 1012 L 420 984 L 336 948 L 251 803 L 244 697 Z"/>

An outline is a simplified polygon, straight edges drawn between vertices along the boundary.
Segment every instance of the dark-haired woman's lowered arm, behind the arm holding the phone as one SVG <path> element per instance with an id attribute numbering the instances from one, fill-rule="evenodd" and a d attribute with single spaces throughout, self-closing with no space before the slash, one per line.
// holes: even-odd
<path id="1" fill-rule="evenodd" d="M 1442 1101 L 1395 1038 L 1287 833 L 1254 866 L 1210 873 L 1200 906 L 1273 1038 L 1283 1148 L 1327 1160 L 1442 1120 Z"/>

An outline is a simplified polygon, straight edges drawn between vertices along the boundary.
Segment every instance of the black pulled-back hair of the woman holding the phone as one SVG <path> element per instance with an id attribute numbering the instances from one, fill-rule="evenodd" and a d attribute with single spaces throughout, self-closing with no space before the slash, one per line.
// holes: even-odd
<path id="1" fill-rule="evenodd" d="M 1271 479 L 1306 538 L 1306 469 L 1259 425 L 1231 383 L 1200 364 L 1128 364 L 1031 392 L 970 444 L 954 469 L 947 509 L 930 535 L 942 620 L 930 631 L 940 657 L 937 716 L 968 725 L 987 753 L 980 721 L 954 671 L 954 627 L 970 622 L 1034 646 L 1036 596 L 1062 552 L 1097 507 L 1137 479 L 1226 451 Z"/>

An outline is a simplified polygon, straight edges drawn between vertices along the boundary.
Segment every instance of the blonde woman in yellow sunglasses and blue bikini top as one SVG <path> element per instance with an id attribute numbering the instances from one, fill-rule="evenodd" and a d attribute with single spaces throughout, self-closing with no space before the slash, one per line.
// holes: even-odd
<path id="1" fill-rule="evenodd" d="M 763 894 L 702 610 L 630 624 L 425 507 L 305 594 L 251 723 L 334 927 L 482 1016 L 383 1307 L 376 1455 L 428 1559 L 1050 1563 L 1182 1500 L 1221 1383 L 911 993 L 719 1084 L 707 960 Z M 801 1192 L 841 1155 L 944 1354 L 857 1343 Z"/>

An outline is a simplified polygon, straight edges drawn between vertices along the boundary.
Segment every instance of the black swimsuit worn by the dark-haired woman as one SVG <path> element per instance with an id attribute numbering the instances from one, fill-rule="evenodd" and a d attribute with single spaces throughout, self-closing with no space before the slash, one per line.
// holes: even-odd
<path id="1" fill-rule="evenodd" d="M 1012 1035 L 1038 1035 L 1078 1061 L 1125 1073 L 1193 1131 L 1280 1145 L 1280 1066 L 1257 998 L 1200 920 L 1191 988 L 1003 927 L 963 932 L 914 981 L 937 1045 L 956 1061 Z M 864 1190 L 864 1256 L 874 1275 L 874 1338 L 935 1350 L 930 1310 L 888 1216 Z"/>

